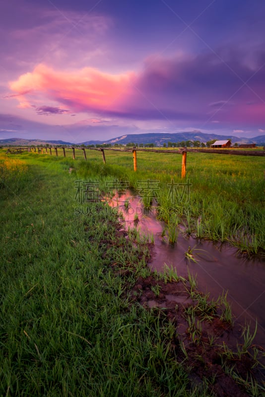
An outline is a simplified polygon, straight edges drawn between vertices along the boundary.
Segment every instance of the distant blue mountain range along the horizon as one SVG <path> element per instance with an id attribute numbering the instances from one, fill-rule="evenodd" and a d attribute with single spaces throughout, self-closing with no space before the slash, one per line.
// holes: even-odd
<path id="1" fill-rule="evenodd" d="M 246 138 L 246 137 L 237 137 L 237 136 L 227 136 L 227 135 L 217 135 L 214 133 L 203 133 L 200 131 L 193 132 L 177 132 L 177 133 L 140 133 L 140 134 L 128 134 L 121 135 L 116 138 L 108 139 L 108 140 L 87 140 L 85 142 L 77 143 L 77 145 L 92 145 L 92 144 L 103 144 L 103 143 L 111 143 L 111 144 L 122 144 L 126 145 L 127 143 L 154 143 L 156 146 L 163 146 L 164 143 L 167 142 L 181 142 L 181 141 L 195 141 L 199 140 L 200 142 L 206 143 L 209 140 L 224 140 L 230 139 L 232 144 L 234 143 L 256 143 L 258 145 L 265 144 L 265 135 L 255 136 L 254 138 Z M 42 140 L 42 139 L 23 139 L 23 138 L 9 138 L 9 139 L 0 139 L 0 145 L 12 145 L 12 146 L 31 146 L 31 145 L 73 145 L 71 142 L 65 142 L 63 140 Z"/>

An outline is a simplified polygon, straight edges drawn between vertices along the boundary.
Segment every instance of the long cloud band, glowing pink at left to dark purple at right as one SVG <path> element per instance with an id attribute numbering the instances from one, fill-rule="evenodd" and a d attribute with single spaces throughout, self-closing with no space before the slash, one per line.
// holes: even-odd
<path id="1" fill-rule="evenodd" d="M 51 107 L 57 105 L 56 109 L 85 112 L 99 120 L 110 116 L 208 123 L 211 118 L 216 122 L 218 117 L 220 123 L 239 127 L 245 122 L 265 122 L 265 103 L 258 98 L 264 96 L 265 68 L 253 74 L 242 64 L 242 54 L 229 54 L 230 67 L 215 54 L 206 53 L 194 58 L 148 58 L 140 71 L 118 74 L 95 67 L 64 70 L 39 64 L 9 87 L 18 95 L 14 99 L 20 101 L 20 107 L 34 104 L 40 108 L 40 103 L 45 101 L 50 106 L 50 101 Z M 251 89 L 242 85 L 239 75 L 250 79 Z"/>

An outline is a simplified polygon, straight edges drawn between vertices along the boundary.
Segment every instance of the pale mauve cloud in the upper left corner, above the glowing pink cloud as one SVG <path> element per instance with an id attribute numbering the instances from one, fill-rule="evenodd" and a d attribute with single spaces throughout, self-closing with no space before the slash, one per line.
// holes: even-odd
<path id="1" fill-rule="evenodd" d="M 106 14 L 84 13 L 74 7 L 58 11 L 48 1 L 19 0 L 15 10 L 13 1 L 3 6 L 1 66 L 6 70 L 25 71 L 44 60 L 58 67 L 83 66 L 91 59 L 103 60 L 106 51 L 111 51 L 107 42 L 113 22 Z"/>

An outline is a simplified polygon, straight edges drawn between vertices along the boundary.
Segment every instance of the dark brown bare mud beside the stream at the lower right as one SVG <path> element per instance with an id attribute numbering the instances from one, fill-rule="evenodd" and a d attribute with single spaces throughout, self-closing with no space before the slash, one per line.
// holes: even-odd
<path id="1" fill-rule="evenodd" d="M 159 284 L 161 287 L 159 296 L 155 296 L 151 290 L 152 286 Z M 173 337 L 171 346 L 178 360 L 185 362 L 189 371 L 190 379 L 195 384 L 200 384 L 201 379 L 209 379 L 209 391 L 216 396 L 248 396 L 242 388 L 235 383 L 229 374 L 222 368 L 221 356 L 223 350 L 220 346 L 223 342 L 229 344 L 230 348 L 235 348 L 239 334 L 234 334 L 230 326 L 215 317 L 211 322 L 203 321 L 199 316 L 197 320 L 201 322 L 202 331 L 198 340 L 192 338 L 192 330 L 186 320 L 185 310 L 194 305 L 190 294 L 187 291 L 188 285 L 183 282 L 157 281 L 152 276 L 145 279 L 139 277 L 131 291 L 132 301 L 137 301 L 144 307 L 162 310 L 167 320 L 174 324 L 176 334 Z M 160 312 L 157 312 L 159 314 Z M 214 344 L 210 344 L 210 336 L 214 336 Z M 186 354 L 184 353 L 186 352 Z M 236 367 L 240 376 L 246 378 L 247 374 L 255 371 L 251 370 L 252 359 L 245 355 L 241 360 L 233 360 L 230 365 Z"/>

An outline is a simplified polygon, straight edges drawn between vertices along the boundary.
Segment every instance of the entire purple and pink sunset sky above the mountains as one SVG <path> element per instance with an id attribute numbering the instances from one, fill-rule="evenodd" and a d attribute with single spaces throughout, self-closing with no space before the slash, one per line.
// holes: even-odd
<path id="1" fill-rule="evenodd" d="M 264 0 L 0 3 L 0 139 L 265 134 Z"/>

